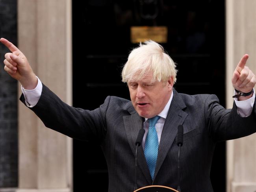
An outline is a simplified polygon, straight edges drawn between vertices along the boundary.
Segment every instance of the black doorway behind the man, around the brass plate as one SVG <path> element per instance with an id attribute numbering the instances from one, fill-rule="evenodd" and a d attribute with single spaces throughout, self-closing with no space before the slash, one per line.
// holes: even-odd
<path id="1" fill-rule="evenodd" d="M 120 74 L 137 46 L 130 41 L 131 26 L 167 26 L 162 45 L 177 63 L 175 89 L 216 94 L 225 106 L 224 1 L 85 0 L 72 6 L 74 107 L 95 109 L 108 95 L 129 99 Z M 74 192 L 107 191 L 108 170 L 99 145 L 73 143 Z M 219 192 L 225 191 L 225 150 L 224 142 L 217 144 L 211 170 L 213 189 Z"/>

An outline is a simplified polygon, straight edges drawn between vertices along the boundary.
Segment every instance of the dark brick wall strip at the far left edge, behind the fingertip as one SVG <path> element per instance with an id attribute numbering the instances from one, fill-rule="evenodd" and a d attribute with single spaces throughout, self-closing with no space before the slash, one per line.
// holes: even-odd
<path id="1" fill-rule="evenodd" d="M 17 0 L 0 0 L 0 37 L 17 45 Z M 18 185 L 17 82 L 4 71 L 0 45 L 0 188 Z"/>

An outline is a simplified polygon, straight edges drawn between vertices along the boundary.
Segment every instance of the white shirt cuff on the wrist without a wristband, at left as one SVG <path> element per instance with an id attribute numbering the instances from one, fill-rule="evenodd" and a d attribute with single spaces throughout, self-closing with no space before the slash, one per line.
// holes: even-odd
<path id="1" fill-rule="evenodd" d="M 41 97 L 43 84 L 38 77 L 37 80 L 37 87 L 35 87 L 35 89 L 24 89 L 21 86 L 21 91 L 24 94 L 25 103 L 28 107 L 34 107 Z"/>

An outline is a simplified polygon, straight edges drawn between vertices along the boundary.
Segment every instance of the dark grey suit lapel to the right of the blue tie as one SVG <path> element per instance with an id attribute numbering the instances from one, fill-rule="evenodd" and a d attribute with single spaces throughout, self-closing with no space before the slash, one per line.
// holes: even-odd
<path id="1" fill-rule="evenodd" d="M 174 138 L 177 135 L 178 132 L 178 126 L 182 125 L 184 120 L 187 117 L 187 113 L 185 113 L 182 109 L 186 108 L 185 103 L 183 102 L 181 96 L 178 94 L 178 92 L 174 91 L 173 100 L 171 102 L 165 124 L 163 126 L 163 131 L 161 134 L 160 144 L 158 148 L 158 159 L 156 161 L 156 170 L 153 178 L 156 177 L 158 174 L 158 171 L 160 170 L 161 165 L 163 164 L 163 161 L 165 160 L 165 157 L 167 153 L 169 152 Z"/>

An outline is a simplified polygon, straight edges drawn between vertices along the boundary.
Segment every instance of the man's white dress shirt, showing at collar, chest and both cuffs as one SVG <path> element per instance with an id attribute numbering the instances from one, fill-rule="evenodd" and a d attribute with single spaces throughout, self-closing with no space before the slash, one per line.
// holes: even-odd
<path id="1" fill-rule="evenodd" d="M 28 89 L 24 89 L 21 86 L 22 93 L 24 94 L 24 97 L 25 97 L 25 103 L 28 107 L 34 107 L 37 104 L 37 102 L 39 101 L 41 93 L 42 93 L 42 88 L 43 88 L 42 82 L 40 81 L 40 79 L 38 77 L 37 77 L 37 79 L 38 79 L 38 83 L 37 83 L 37 87 L 35 87 L 35 89 L 28 90 Z M 236 94 L 236 92 L 234 92 L 234 94 Z M 163 131 L 163 125 L 165 123 L 165 119 L 167 117 L 172 100 L 173 100 L 173 92 L 171 94 L 169 101 L 165 105 L 165 108 L 163 109 L 163 111 L 161 111 L 161 113 L 158 114 L 158 116 L 161 117 L 158 120 L 158 122 L 156 123 L 158 144 L 160 143 L 161 133 Z M 255 100 L 255 92 L 254 92 L 253 96 L 248 100 L 238 101 L 237 98 L 234 98 L 234 100 L 235 100 L 235 103 L 237 106 L 237 113 L 241 117 L 247 117 L 252 113 L 252 107 L 254 105 L 254 100 Z M 145 148 L 145 140 L 146 140 L 146 137 L 148 134 L 148 126 L 149 126 L 148 119 L 145 118 L 145 122 L 143 123 L 143 129 L 145 129 L 145 134 L 144 134 L 144 137 L 142 140 L 143 149 Z"/>

